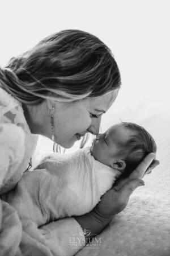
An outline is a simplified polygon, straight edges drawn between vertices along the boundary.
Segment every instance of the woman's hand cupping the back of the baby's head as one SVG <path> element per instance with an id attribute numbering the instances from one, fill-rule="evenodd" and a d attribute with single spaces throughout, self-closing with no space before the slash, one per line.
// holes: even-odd
<path id="1" fill-rule="evenodd" d="M 112 218 L 114 214 L 121 212 L 128 204 L 129 197 L 133 191 L 145 185 L 141 180 L 146 173 L 150 173 L 159 161 L 154 160 L 155 154 L 151 153 L 139 164 L 139 166 L 125 179 L 119 179 L 107 193 L 101 197 L 101 201 L 96 205 L 94 212 L 96 217 L 103 218 L 103 220 Z M 154 162 L 151 164 L 151 162 Z M 148 168 L 149 167 L 149 168 Z"/>

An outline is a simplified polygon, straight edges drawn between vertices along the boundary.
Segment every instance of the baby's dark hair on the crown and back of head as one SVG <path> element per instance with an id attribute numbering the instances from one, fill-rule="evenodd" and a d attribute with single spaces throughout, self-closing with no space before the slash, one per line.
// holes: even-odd
<path id="1" fill-rule="evenodd" d="M 134 134 L 130 135 L 121 150 L 121 153 L 126 155 L 124 159 L 126 162 L 124 176 L 127 177 L 135 170 L 147 154 L 156 152 L 156 143 L 142 126 L 129 122 L 122 122 L 122 125 L 130 131 L 134 131 Z M 152 163 L 154 163 L 154 160 Z"/>

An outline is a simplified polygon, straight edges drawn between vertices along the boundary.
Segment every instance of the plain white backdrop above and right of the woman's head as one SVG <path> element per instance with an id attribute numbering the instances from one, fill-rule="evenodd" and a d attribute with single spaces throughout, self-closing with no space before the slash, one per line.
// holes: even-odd
<path id="1" fill-rule="evenodd" d="M 169 115 L 169 1 L 15 0 L 1 2 L 0 9 L 2 67 L 53 32 L 88 31 L 111 48 L 122 77 L 102 129 L 120 120 L 142 123 L 151 114 Z"/>

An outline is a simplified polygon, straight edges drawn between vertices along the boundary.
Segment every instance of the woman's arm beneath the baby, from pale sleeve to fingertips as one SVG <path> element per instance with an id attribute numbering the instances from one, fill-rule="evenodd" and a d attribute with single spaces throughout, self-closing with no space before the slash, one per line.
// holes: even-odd
<path id="1" fill-rule="evenodd" d="M 126 207 L 135 188 L 143 184 L 141 178 L 154 158 L 155 154 L 148 155 L 128 178 L 119 180 L 105 193 L 90 213 L 41 226 L 41 234 L 50 251 L 59 256 L 74 255 L 90 241 L 91 237 L 99 234 L 112 220 L 113 215 Z M 90 233 L 86 234 L 86 230 L 90 230 Z"/>

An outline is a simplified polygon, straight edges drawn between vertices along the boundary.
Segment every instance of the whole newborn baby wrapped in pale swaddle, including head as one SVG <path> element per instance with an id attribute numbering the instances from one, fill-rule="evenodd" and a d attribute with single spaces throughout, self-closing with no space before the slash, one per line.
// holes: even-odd
<path id="1" fill-rule="evenodd" d="M 73 154 L 50 154 L 2 196 L 22 220 L 37 226 L 90 212 L 121 175 L 129 174 L 156 144 L 143 127 L 118 123 Z"/>

